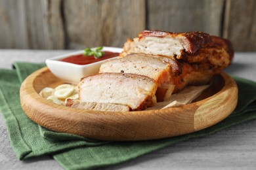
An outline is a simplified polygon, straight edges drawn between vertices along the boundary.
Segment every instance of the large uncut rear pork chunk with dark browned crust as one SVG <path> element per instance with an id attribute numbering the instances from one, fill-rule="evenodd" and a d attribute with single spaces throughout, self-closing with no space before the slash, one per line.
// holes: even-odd
<path id="1" fill-rule="evenodd" d="M 174 93 L 187 85 L 209 83 L 214 75 L 230 65 L 234 56 L 230 41 L 200 31 L 142 31 L 135 39 L 125 42 L 120 56 L 137 53 L 171 64 L 169 83 L 175 85 Z"/>

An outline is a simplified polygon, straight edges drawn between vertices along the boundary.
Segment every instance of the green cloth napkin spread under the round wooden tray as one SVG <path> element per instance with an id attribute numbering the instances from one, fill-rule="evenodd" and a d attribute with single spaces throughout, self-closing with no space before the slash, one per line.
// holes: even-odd
<path id="1" fill-rule="evenodd" d="M 12 148 L 20 160 L 51 154 L 64 169 L 93 169 L 132 160 L 170 144 L 209 135 L 256 118 L 256 83 L 234 77 L 239 89 L 236 110 L 219 124 L 196 133 L 133 142 L 95 141 L 68 133 L 56 133 L 35 124 L 20 107 L 21 82 L 43 66 L 45 65 L 14 63 L 12 70 L 0 69 L 0 112 L 5 119 Z"/>

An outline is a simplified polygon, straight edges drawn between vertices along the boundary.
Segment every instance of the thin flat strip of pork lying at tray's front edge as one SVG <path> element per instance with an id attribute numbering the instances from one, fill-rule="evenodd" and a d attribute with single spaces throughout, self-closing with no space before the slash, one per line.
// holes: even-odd
<path id="1" fill-rule="evenodd" d="M 67 99 L 66 106 L 77 109 L 111 112 L 128 112 L 130 110 L 130 108 L 125 105 L 116 105 L 112 103 L 81 102 L 74 99 Z"/>

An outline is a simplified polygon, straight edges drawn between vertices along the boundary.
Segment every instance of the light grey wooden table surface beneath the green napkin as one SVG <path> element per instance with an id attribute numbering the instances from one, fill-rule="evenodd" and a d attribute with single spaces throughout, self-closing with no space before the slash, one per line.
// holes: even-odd
<path id="1" fill-rule="evenodd" d="M 67 50 L 0 50 L 0 68 L 11 69 L 14 61 L 43 62 Z M 256 81 L 256 52 L 236 53 L 230 75 Z M 1 114 L 0 114 L 1 115 Z M 256 169 L 256 120 L 189 139 L 132 161 L 103 169 Z M 62 169 L 51 156 L 19 161 L 9 143 L 0 116 L 0 169 Z"/>

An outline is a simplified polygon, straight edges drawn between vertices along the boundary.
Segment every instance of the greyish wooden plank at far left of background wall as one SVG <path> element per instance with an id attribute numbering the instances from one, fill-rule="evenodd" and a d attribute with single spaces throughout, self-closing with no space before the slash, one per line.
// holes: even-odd
<path id="1" fill-rule="evenodd" d="M 60 2 L 0 0 L 0 48 L 63 49 Z"/>

